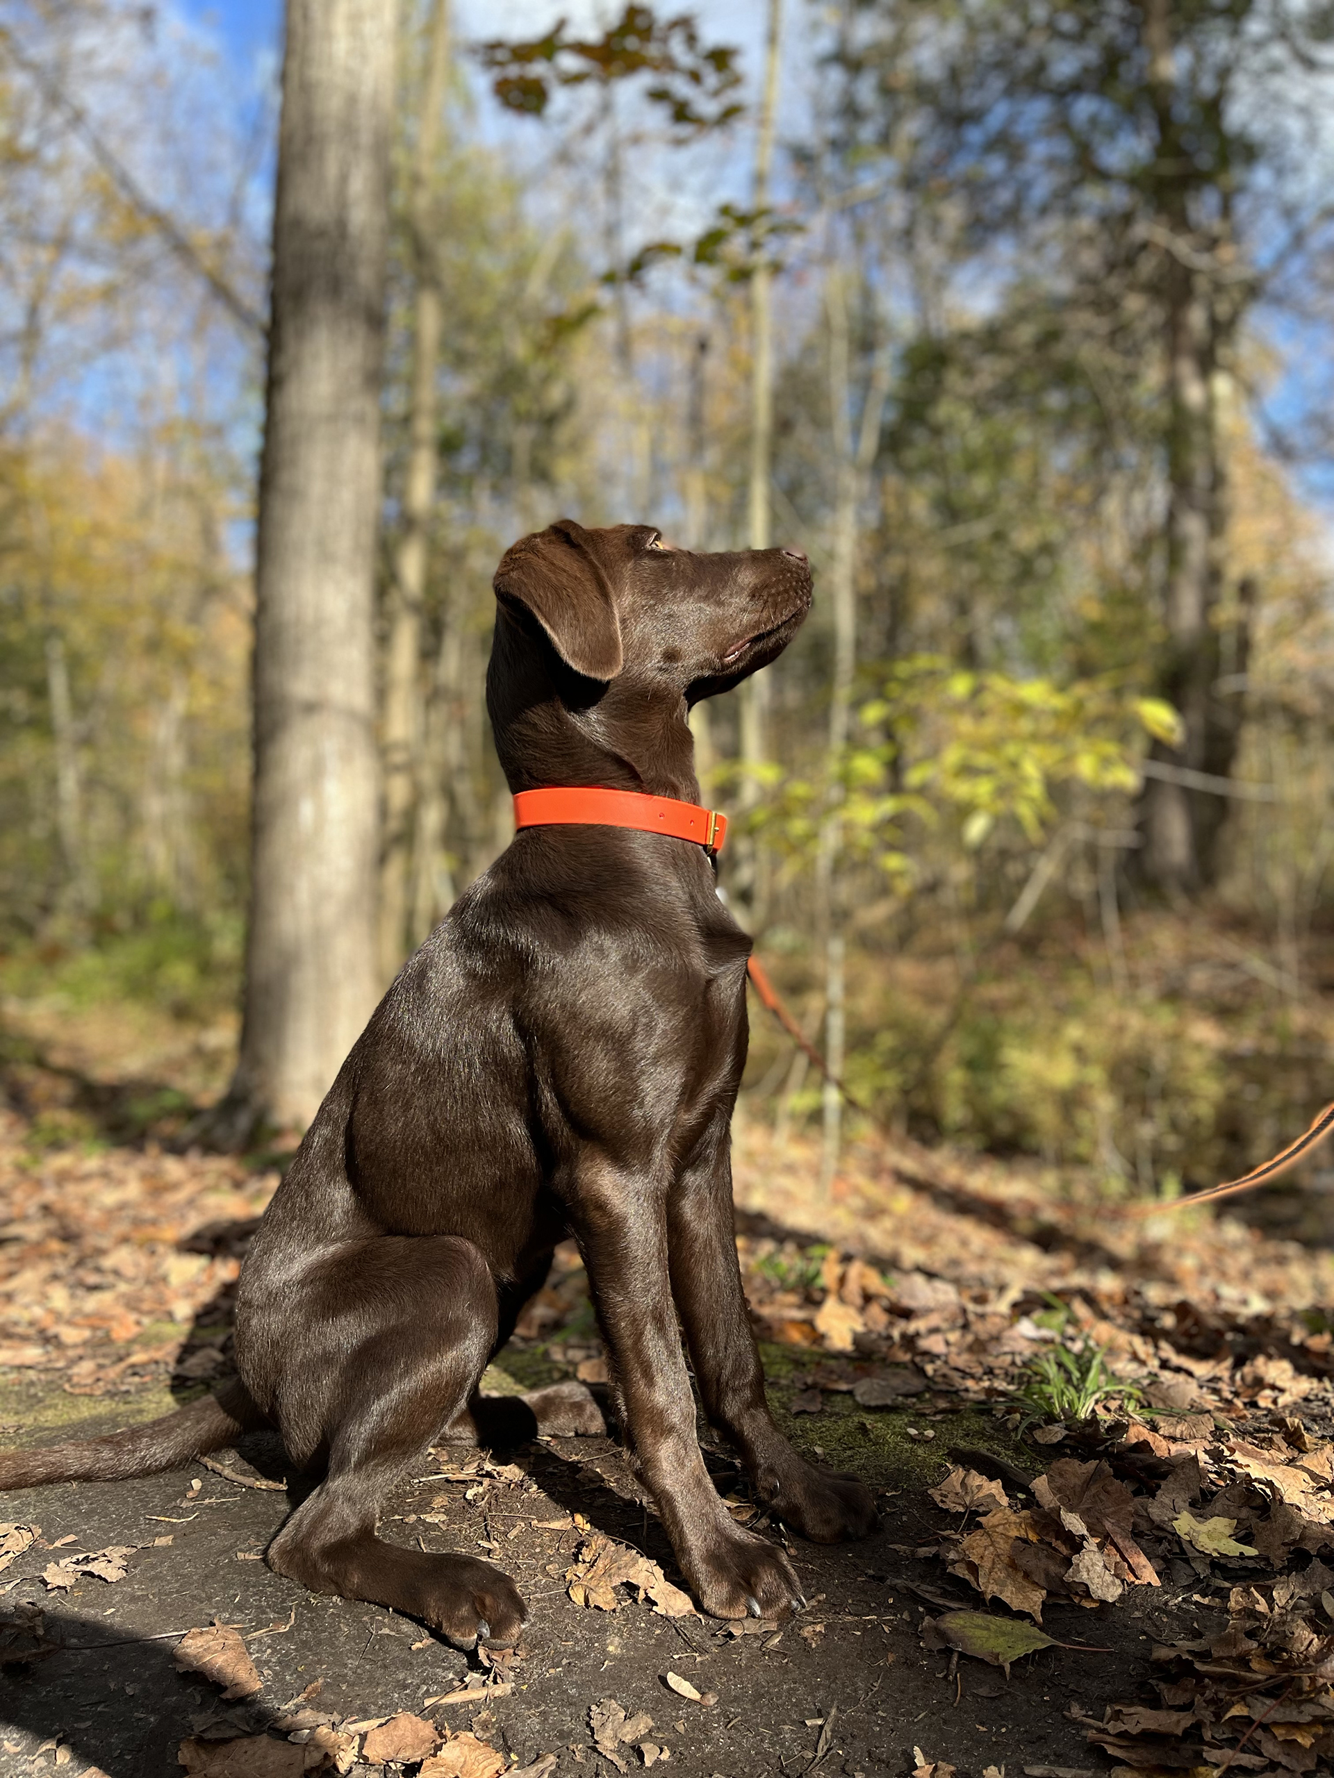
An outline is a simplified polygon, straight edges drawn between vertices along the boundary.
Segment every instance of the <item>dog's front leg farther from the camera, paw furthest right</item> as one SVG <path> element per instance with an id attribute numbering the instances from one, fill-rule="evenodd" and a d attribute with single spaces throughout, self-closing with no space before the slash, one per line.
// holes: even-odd
<path id="1" fill-rule="evenodd" d="M 672 1293 L 704 1414 L 736 1446 L 761 1501 L 815 1543 L 864 1538 L 875 1501 L 856 1476 L 816 1469 L 779 1433 L 765 1399 L 733 1234 L 731 1150 L 719 1120 L 669 1200 Z"/>

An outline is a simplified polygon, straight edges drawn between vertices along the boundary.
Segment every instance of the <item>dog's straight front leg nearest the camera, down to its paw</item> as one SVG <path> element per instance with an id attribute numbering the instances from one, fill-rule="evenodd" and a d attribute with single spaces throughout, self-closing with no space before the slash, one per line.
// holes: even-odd
<path id="1" fill-rule="evenodd" d="M 667 1275 L 665 1186 L 592 1161 L 571 1211 L 640 1474 L 681 1572 L 715 1618 L 786 1618 L 802 1604 L 792 1565 L 733 1522 L 699 1451 Z"/>

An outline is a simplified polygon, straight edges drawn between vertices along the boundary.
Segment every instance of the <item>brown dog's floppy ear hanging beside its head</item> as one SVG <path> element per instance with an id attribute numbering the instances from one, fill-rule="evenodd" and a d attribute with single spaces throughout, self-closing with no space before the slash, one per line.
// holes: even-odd
<path id="1" fill-rule="evenodd" d="M 621 622 L 592 537 L 573 519 L 521 537 L 500 558 L 496 596 L 525 605 L 575 672 L 615 679 Z"/>

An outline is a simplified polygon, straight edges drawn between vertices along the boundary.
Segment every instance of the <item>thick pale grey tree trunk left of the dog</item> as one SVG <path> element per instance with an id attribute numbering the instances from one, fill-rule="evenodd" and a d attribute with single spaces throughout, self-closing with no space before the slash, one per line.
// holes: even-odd
<path id="1" fill-rule="evenodd" d="M 288 0 L 233 1127 L 306 1124 L 379 992 L 374 565 L 397 0 Z"/>

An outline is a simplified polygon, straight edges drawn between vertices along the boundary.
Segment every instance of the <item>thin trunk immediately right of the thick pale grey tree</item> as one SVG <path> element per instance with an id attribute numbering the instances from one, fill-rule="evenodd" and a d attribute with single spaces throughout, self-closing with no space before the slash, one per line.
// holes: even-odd
<path id="1" fill-rule="evenodd" d="M 379 907 L 382 981 L 393 978 L 407 951 L 409 914 L 413 912 L 413 843 L 414 837 L 420 843 L 429 837 L 416 832 L 425 717 L 422 601 L 427 583 L 430 516 L 436 507 L 436 379 L 443 327 L 441 290 L 430 249 L 430 180 L 439 153 L 448 69 L 448 0 L 432 0 L 427 18 L 427 60 L 409 196 L 416 293 L 407 412 L 407 475 L 404 480 L 402 532 L 393 558 L 384 649 L 384 720 L 381 727 L 384 841 Z"/>

